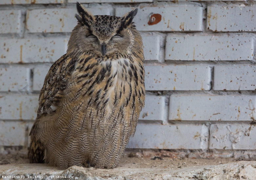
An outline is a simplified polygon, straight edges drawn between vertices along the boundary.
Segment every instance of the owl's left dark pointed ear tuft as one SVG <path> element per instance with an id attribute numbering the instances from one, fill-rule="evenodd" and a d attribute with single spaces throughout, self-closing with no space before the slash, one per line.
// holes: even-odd
<path id="1" fill-rule="evenodd" d="M 75 14 L 75 17 L 79 23 L 82 25 L 89 26 L 94 21 L 94 16 L 87 12 L 86 9 L 78 2 L 76 2 L 76 9 L 77 12 L 79 12 L 80 16 L 78 14 Z"/>

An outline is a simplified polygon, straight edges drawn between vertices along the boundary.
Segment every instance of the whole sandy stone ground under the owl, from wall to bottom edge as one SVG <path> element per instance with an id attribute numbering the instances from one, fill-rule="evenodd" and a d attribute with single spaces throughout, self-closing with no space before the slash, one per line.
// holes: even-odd
<path id="1" fill-rule="evenodd" d="M 61 170 L 45 164 L 29 164 L 26 152 L 0 155 L 0 164 L 2 164 L 0 165 L 0 180 L 22 179 L 21 177 L 13 177 L 18 175 L 25 176 L 24 179 L 45 180 L 256 179 L 256 161 L 239 161 L 235 158 L 176 158 L 166 153 L 126 152 L 119 166 L 115 169 L 73 166 L 67 170 Z M 12 177 L 10 177 L 11 175 Z"/>

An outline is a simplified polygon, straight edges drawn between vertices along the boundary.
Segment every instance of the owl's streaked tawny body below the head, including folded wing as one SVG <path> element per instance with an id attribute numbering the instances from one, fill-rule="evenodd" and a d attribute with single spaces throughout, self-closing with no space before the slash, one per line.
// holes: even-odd
<path id="1" fill-rule="evenodd" d="M 141 59 L 103 61 L 90 55 L 64 55 L 57 60 L 40 93 L 30 133 L 31 162 L 42 162 L 38 154 L 42 156 L 46 148 L 55 153 L 48 154 L 45 162 L 58 167 L 66 167 L 69 157 L 77 158 L 72 161 L 79 165 L 81 159 L 90 158 L 95 167 L 116 167 L 144 106 Z"/>

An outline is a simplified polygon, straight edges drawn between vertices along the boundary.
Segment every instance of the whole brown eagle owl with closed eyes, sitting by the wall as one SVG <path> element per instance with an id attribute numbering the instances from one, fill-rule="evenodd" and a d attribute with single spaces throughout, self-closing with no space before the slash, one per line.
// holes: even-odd
<path id="1" fill-rule="evenodd" d="M 142 39 L 133 21 L 80 3 L 68 50 L 50 68 L 30 136 L 31 163 L 115 168 L 144 106 Z"/>

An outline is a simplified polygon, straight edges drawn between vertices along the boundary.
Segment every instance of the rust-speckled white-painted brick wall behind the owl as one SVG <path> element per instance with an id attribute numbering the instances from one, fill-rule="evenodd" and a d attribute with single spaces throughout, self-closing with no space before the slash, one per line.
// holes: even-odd
<path id="1" fill-rule="evenodd" d="M 0 146 L 28 146 L 44 77 L 76 25 L 75 2 L 0 1 Z M 253 1 L 80 2 L 94 15 L 139 7 L 147 92 L 128 148 L 256 149 Z M 156 25 L 151 12 L 162 16 Z"/>

